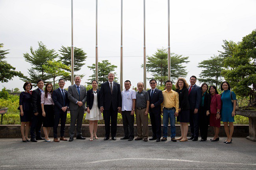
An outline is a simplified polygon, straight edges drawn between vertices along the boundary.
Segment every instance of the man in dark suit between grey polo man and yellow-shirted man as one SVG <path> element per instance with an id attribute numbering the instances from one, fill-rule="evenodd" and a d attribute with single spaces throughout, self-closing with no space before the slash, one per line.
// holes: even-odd
<path id="1" fill-rule="evenodd" d="M 156 140 L 160 142 L 161 138 L 161 103 L 163 102 L 163 93 L 156 88 L 156 80 L 151 79 L 149 81 L 151 89 L 148 90 L 149 95 L 149 117 L 151 120 L 151 126 L 153 135 L 149 139 L 150 141 Z"/>

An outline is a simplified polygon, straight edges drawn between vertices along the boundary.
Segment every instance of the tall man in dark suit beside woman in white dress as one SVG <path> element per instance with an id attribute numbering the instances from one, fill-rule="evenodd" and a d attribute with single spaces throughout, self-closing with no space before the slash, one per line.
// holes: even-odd
<path id="1" fill-rule="evenodd" d="M 121 112 L 122 98 L 120 84 L 114 82 L 115 73 L 108 73 L 108 81 L 101 84 L 100 88 L 100 111 L 103 112 L 105 122 L 105 138 L 109 139 L 111 119 L 111 139 L 116 140 L 117 112 Z"/>

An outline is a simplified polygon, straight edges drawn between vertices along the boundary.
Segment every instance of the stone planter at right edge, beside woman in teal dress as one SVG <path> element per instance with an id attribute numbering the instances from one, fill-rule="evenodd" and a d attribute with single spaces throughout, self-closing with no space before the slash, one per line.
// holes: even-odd
<path id="1" fill-rule="evenodd" d="M 250 141 L 256 142 L 255 137 L 255 122 L 256 122 L 256 111 L 252 110 L 238 110 L 236 111 L 237 115 L 242 115 L 249 118 L 249 136 L 246 137 L 246 139 L 249 139 Z"/>

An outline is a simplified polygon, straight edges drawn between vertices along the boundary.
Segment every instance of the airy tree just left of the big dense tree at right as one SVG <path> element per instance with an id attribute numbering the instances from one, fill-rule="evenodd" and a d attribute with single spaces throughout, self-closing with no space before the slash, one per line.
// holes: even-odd
<path id="1" fill-rule="evenodd" d="M 197 67 L 204 68 L 204 70 L 202 70 L 199 75 L 199 82 L 215 84 L 216 87 L 221 84 L 221 71 L 224 69 L 222 57 L 214 55 L 209 60 L 203 60 L 202 62 L 199 62 Z"/>

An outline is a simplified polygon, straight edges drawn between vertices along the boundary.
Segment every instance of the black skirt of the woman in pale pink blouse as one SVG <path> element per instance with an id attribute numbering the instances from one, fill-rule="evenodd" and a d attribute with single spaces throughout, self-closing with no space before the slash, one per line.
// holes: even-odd
<path id="1" fill-rule="evenodd" d="M 53 105 L 44 105 L 45 117 L 43 117 L 43 127 L 53 127 L 54 109 Z"/>

